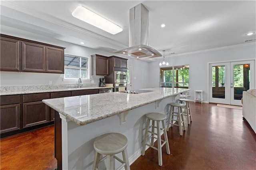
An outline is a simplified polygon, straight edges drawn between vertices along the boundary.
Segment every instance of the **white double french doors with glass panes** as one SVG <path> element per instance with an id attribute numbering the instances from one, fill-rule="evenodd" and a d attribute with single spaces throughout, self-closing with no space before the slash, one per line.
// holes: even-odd
<path id="1" fill-rule="evenodd" d="M 254 60 L 211 63 L 209 102 L 241 106 L 243 91 L 254 89 Z"/>

